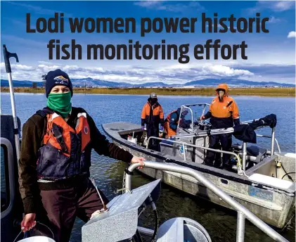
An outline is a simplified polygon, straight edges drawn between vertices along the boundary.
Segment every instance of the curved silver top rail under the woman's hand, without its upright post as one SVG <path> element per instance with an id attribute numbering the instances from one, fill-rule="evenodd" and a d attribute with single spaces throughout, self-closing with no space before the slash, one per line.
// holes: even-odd
<path id="1" fill-rule="evenodd" d="M 141 164 L 135 163 L 131 164 L 128 168 L 129 172 L 134 171 L 137 167 L 140 167 Z M 188 167 L 181 167 L 180 165 L 172 165 L 172 164 L 165 164 L 165 163 L 157 163 L 157 162 L 150 162 L 150 161 L 144 161 L 144 167 L 149 167 L 157 170 L 166 170 L 169 172 L 178 172 L 181 174 L 188 174 L 191 177 L 194 177 L 200 183 L 202 183 L 207 189 L 210 189 L 213 193 L 215 193 L 219 198 L 224 200 L 226 203 L 231 205 L 232 208 L 234 208 L 238 212 L 242 212 L 245 217 L 255 224 L 259 229 L 264 231 L 265 234 L 267 234 L 269 237 L 273 238 L 274 241 L 284 241 L 288 242 L 287 239 L 285 239 L 281 234 L 278 234 L 274 229 L 271 229 L 267 224 L 265 224 L 259 217 L 255 216 L 252 212 L 247 210 L 243 205 L 238 203 L 236 200 L 231 198 L 226 192 L 219 189 L 217 186 L 215 186 L 212 181 L 209 181 L 206 179 L 202 174 L 199 172 L 196 172 L 195 170 L 188 168 Z M 131 176 L 127 174 L 126 176 L 126 184 L 125 188 L 131 190 Z"/>

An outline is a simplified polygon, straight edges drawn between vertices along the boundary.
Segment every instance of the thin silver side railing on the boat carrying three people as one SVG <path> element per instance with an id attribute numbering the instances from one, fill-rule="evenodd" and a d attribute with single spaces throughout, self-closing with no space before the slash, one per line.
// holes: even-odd
<path id="1" fill-rule="evenodd" d="M 225 153 L 225 154 L 229 154 L 229 155 L 233 155 L 233 156 L 236 156 L 237 160 L 238 160 L 238 174 L 239 175 L 243 175 L 244 174 L 244 170 L 242 169 L 242 163 L 240 162 L 240 157 L 238 154 L 236 153 L 233 153 L 233 152 L 230 152 L 230 151 L 222 151 L 222 150 L 217 150 L 217 149 L 214 149 L 214 148 L 208 148 L 208 147 L 205 147 L 205 146 L 195 146 L 194 144 L 188 144 L 186 142 L 183 142 L 183 141 L 174 141 L 174 140 L 171 140 L 171 139 L 163 139 L 163 138 L 159 138 L 159 137 L 155 137 L 155 136 L 150 136 L 147 140 L 147 144 L 146 144 L 146 148 L 148 148 L 149 146 L 149 141 L 151 139 L 157 139 L 157 140 L 162 140 L 162 141 L 169 141 L 169 142 L 172 142 L 172 143 L 175 143 L 175 144 L 181 144 L 183 146 L 183 151 L 185 151 L 185 146 L 191 146 L 191 147 L 194 147 L 194 148 L 202 148 L 206 151 L 214 151 L 214 152 L 217 152 L 217 153 Z M 245 151 L 245 155 L 247 155 L 247 152 Z M 186 161 L 186 153 L 184 152 L 184 161 Z M 244 167 L 245 165 L 243 165 Z"/>

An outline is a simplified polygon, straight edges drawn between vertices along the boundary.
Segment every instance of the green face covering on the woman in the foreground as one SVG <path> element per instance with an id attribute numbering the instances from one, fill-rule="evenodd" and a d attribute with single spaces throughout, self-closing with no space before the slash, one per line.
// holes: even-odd
<path id="1" fill-rule="evenodd" d="M 64 94 L 49 94 L 47 106 L 63 118 L 67 117 L 72 108 L 71 91 Z"/>

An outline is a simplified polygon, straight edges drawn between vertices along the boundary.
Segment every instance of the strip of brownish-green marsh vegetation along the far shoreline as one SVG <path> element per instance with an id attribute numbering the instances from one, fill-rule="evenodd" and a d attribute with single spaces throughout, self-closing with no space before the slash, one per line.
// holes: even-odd
<path id="1" fill-rule="evenodd" d="M 14 87 L 15 93 L 45 93 L 44 87 Z M 1 87 L 1 92 L 9 92 L 9 87 Z M 148 95 L 155 92 L 157 95 L 180 96 L 213 96 L 215 89 L 205 88 L 73 88 L 75 94 L 130 94 Z M 295 87 L 245 87 L 230 88 L 229 95 L 233 96 L 295 96 Z"/>

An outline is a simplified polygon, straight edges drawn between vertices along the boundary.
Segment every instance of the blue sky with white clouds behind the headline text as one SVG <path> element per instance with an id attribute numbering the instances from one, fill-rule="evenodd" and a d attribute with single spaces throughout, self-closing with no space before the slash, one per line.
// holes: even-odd
<path id="1" fill-rule="evenodd" d="M 30 13 L 30 21 L 26 18 Z M 36 30 L 37 19 L 49 20 L 55 13 L 63 13 L 64 32 L 26 32 L 27 25 Z M 218 18 L 229 18 L 231 14 L 238 18 L 269 18 L 264 32 L 245 33 L 202 33 L 202 13 L 209 18 L 218 14 Z M 134 18 L 135 33 L 72 33 L 69 18 Z M 182 33 L 149 32 L 141 37 L 141 19 L 155 18 L 197 18 L 195 31 Z M 225 22 L 230 26 L 229 22 Z M 207 30 L 209 30 L 207 24 Z M 147 25 L 145 25 L 147 26 Z M 236 27 L 236 23 L 234 25 Z M 254 26 L 254 25 L 253 25 Z M 43 25 L 41 24 L 41 27 Z M 159 27 L 159 22 L 155 25 Z M 218 30 L 221 25 L 218 25 Z M 236 28 L 237 30 L 237 28 Z M 49 59 L 50 39 L 59 39 L 60 45 L 76 44 L 82 46 L 82 60 Z M 144 44 L 189 44 L 189 62 L 178 60 L 87 60 L 88 44 L 129 44 L 129 39 Z M 223 60 L 219 54 L 214 60 L 211 49 L 210 60 L 194 58 L 194 46 L 204 45 L 207 39 L 221 40 L 223 44 L 242 44 L 247 49 L 243 60 L 238 51 L 238 58 Z M 60 68 L 70 78 L 102 79 L 112 82 L 165 82 L 182 84 L 198 79 L 247 79 L 259 82 L 295 83 L 295 1 L 1 1 L 1 44 L 6 44 L 8 51 L 18 53 L 20 63 L 11 59 L 13 79 L 41 81 L 41 75 L 49 70 Z M 179 57 L 179 52 L 178 57 Z M 63 55 L 63 53 L 61 53 Z M 1 79 L 7 79 L 4 58 L 1 52 Z"/>

